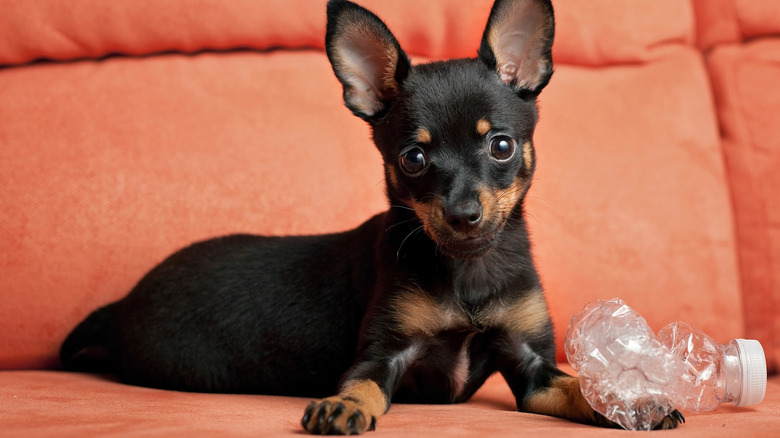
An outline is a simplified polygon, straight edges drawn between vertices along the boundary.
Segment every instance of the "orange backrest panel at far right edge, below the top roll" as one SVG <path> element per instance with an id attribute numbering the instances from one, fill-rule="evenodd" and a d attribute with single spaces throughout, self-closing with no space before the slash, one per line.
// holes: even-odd
<path id="1" fill-rule="evenodd" d="M 780 363 L 780 39 L 717 47 L 708 59 L 732 184 L 746 335 Z"/>

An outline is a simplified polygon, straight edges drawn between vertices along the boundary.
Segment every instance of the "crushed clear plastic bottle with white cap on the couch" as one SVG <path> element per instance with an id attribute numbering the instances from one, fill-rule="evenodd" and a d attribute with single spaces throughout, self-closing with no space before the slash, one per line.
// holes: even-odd
<path id="1" fill-rule="evenodd" d="M 656 336 L 620 299 L 585 306 L 572 317 L 564 346 L 591 407 L 629 430 L 650 430 L 675 409 L 757 404 L 766 392 L 758 341 L 720 344 L 682 322 Z"/>

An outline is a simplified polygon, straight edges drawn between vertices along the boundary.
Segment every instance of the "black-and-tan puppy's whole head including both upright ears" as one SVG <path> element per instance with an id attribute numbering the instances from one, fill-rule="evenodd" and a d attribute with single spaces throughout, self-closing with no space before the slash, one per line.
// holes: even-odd
<path id="1" fill-rule="evenodd" d="M 374 14 L 328 4 L 328 57 L 372 128 L 390 203 L 413 209 L 445 255 L 481 256 L 522 215 L 553 35 L 549 0 L 497 0 L 476 59 L 412 66 Z"/>

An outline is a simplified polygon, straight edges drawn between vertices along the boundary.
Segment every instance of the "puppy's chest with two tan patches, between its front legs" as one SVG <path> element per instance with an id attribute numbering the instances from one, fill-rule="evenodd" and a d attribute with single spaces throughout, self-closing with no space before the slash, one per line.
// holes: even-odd
<path id="1" fill-rule="evenodd" d="M 451 296 L 451 295 L 450 295 Z M 493 295 L 479 305 L 434 297 L 420 288 L 399 291 L 391 301 L 394 329 L 410 346 L 394 360 L 406 370 L 410 398 L 452 402 L 470 396 L 484 380 L 495 336 L 521 340 L 549 329 L 539 288 Z"/>

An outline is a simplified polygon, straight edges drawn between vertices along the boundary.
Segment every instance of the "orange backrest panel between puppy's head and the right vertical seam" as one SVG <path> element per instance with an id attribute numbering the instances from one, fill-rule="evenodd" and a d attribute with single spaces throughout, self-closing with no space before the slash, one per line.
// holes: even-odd
<path id="1" fill-rule="evenodd" d="M 685 47 L 657 62 L 559 66 L 540 99 L 527 200 L 556 338 L 621 297 L 655 330 L 743 335 L 733 222 L 708 79 Z M 565 360 L 559 352 L 559 360 Z"/>

